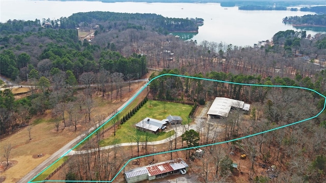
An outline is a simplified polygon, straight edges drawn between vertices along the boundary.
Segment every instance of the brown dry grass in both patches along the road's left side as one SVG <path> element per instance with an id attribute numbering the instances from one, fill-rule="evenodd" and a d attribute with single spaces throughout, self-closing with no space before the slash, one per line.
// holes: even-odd
<path id="1" fill-rule="evenodd" d="M 98 106 L 91 114 L 93 116 L 92 118 L 95 118 L 94 116 L 96 115 L 103 114 L 107 116 L 108 114 L 111 114 L 127 101 L 127 99 L 129 99 L 129 97 L 143 84 L 144 82 L 132 83 L 130 93 L 128 86 L 123 88 L 123 99 L 121 101 L 118 100 L 111 102 L 111 99 L 102 99 L 101 95 L 96 95 L 95 100 L 97 101 Z M 37 167 L 41 162 L 46 160 L 50 155 L 55 153 L 55 151 L 88 128 L 87 125 L 85 125 L 85 121 L 82 120 L 83 122 L 80 123 L 81 125 L 77 126 L 76 132 L 74 131 L 74 127 L 63 129 L 63 124 L 61 124 L 61 130 L 57 132 L 55 122 L 51 119 L 50 111 L 46 111 L 44 115 L 32 119 L 31 121 L 32 123 L 33 121 L 41 121 L 32 125 L 32 140 L 29 140 L 28 127 L 22 128 L 16 133 L 1 139 L 0 149 L 7 144 L 11 144 L 13 148 L 9 159 L 18 162 L 17 165 L 1 173 L 1 176 L 6 176 L 4 182 L 17 182 L 20 178 Z M 33 156 L 38 154 L 45 154 L 45 156 L 37 159 L 33 158 Z M 4 160 L 4 157 L 1 156 L 0 161 Z"/>

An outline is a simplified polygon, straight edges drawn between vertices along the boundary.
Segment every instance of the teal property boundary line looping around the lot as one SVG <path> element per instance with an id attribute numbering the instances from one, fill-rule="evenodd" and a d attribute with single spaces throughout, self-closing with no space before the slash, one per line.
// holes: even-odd
<path id="1" fill-rule="evenodd" d="M 315 92 L 316 94 L 318 94 L 319 96 L 323 97 L 325 99 L 325 102 L 324 102 L 324 107 L 322 108 L 322 110 L 315 116 L 313 117 L 309 117 L 309 118 L 306 118 L 306 119 L 303 119 L 303 120 L 300 120 L 300 121 L 296 121 L 294 123 L 291 123 L 291 124 L 288 124 L 288 125 L 284 125 L 284 126 L 281 126 L 281 127 L 277 127 L 277 128 L 274 128 L 274 129 L 269 129 L 269 130 L 266 130 L 266 131 L 263 131 L 263 132 L 259 132 L 259 133 L 255 133 L 255 134 L 251 134 L 251 135 L 247 135 L 247 136 L 244 136 L 244 137 L 239 137 L 239 138 L 236 138 L 236 139 L 232 139 L 232 140 L 227 140 L 227 141 L 223 141 L 223 142 L 216 142 L 216 143 L 211 143 L 211 144 L 206 144 L 206 145 L 200 145 L 200 146 L 196 146 L 196 147 L 187 147 L 187 148 L 183 148 L 183 149 L 176 149 L 176 150 L 169 150 L 169 151 L 165 151 L 165 152 L 162 152 L 162 153 L 154 153 L 154 154 L 150 154 L 150 155 L 144 155 L 144 156 L 140 156 L 140 157 L 135 157 L 135 158 L 131 158 L 129 159 L 124 165 L 123 167 L 118 171 L 118 173 L 112 178 L 112 180 L 109 180 L 109 181 L 96 181 L 96 180 L 83 180 L 83 181 L 80 181 L 80 180 L 41 180 L 41 181 L 32 181 L 33 179 L 35 179 L 36 177 L 38 177 L 40 174 L 42 174 L 44 171 L 46 171 L 50 166 L 52 166 L 53 164 L 55 164 L 56 162 L 58 162 L 60 159 L 62 159 L 64 156 L 66 156 L 72 149 L 74 149 L 75 147 L 77 147 L 80 143 L 83 143 L 87 138 L 89 138 L 90 136 L 92 136 L 94 133 L 96 133 L 99 129 L 101 129 L 105 124 L 108 123 L 108 121 L 111 121 L 116 115 L 118 115 L 123 109 L 125 109 L 136 97 L 139 96 L 139 94 L 141 92 L 143 92 L 143 90 L 155 79 L 159 78 L 159 77 L 162 77 L 162 76 L 177 76 L 177 77 L 184 77 L 184 78 L 191 78 L 191 79 L 200 79 L 200 80 L 206 80 L 206 81 L 214 81 L 214 82 L 222 82 L 222 83 L 230 83 L 230 84 L 238 84 L 238 85 L 250 85 L 250 86 L 265 86 L 265 87 L 288 87 L 288 88 L 298 88 L 298 89 L 307 89 L 307 90 L 310 90 L 312 92 Z M 69 149 L 67 151 L 67 153 L 65 153 L 64 155 L 62 155 L 59 159 L 57 159 L 55 162 L 53 162 L 51 165 L 49 165 L 48 167 L 46 167 L 43 171 L 41 171 L 39 174 L 37 174 L 35 177 L 33 177 L 29 183 L 36 183 L 36 182 L 113 182 L 114 179 L 121 173 L 122 170 L 124 170 L 124 168 L 126 167 L 126 165 L 130 162 L 130 161 L 133 161 L 135 159 L 139 159 L 139 158 L 144 158 L 144 157 L 149 157 L 149 156 L 154 156 L 154 155 L 161 155 L 161 154 L 166 154 L 166 153 L 172 153 L 172 152 L 176 152 L 176 151 L 181 151 L 181 150 L 188 150 L 188 149 L 193 149 L 193 148 L 200 148 L 200 147 L 206 147 L 206 146 L 210 146 L 210 145 L 218 145 L 218 144 L 222 144 L 222 143 L 227 143 L 227 142 L 233 142 L 233 141 L 236 141 L 236 140 L 241 140 L 241 139 L 244 139 L 244 138 L 249 138 L 249 137 L 253 137 L 253 136 L 256 136 L 256 135 L 259 135 L 259 134 L 263 134 L 263 133 L 267 133 L 267 132 L 271 132 L 271 131 L 274 131 L 274 130 L 278 130 L 278 129 L 281 129 L 281 128 L 285 128 L 285 127 L 289 127 L 289 126 L 292 126 L 292 125 L 296 125 L 296 124 L 299 124 L 299 123 L 302 123 L 303 121 L 307 121 L 307 120 L 310 120 L 310 119 L 313 119 L 317 116 L 319 116 L 324 110 L 325 110 L 325 107 L 326 107 L 326 97 L 323 96 L 322 94 L 316 92 L 315 90 L 313 89 L 310 89 L 310 88 L 305 88 L 305 87 L 300 87 L 300 86 L 283 86 L 283 85 L 264 85 L 264 84 L 247 84 L 247 83 L 236 83 L 236 82 L 230 82 L 230 81 L 221 81 L 221 80 L 214 80 L 214 79 L 207 79 L 207 78 L 199 78 L 199 77 L 193 77 L 193 76 L 183 76 L 183 75 L 177 75 L 177 74 L 162 74 L 162 75 L 159 75 L 159 76 L 156 76 L 154 77 L 153 79 L 151 79 L 148 83 L 146 83 L 144 85 L 144 87 L 139 90 L 139 92 L 134 95 L 131 100 L 123 107 L 121 108 L 121 110 L 119 110 L 115 115 L 113 115 L 112 117 L 110 117 L 110 119 L 108 119 L 107 121 L 105 121 L 105 123 L 103 123 L 101 126 L 99 126 L 96 130 L 94 130 L 91 134 L 89 134 L 87 137 L 85 137 L 82 141 L 80 141 L 79 143 L 77 143 L 75 146 L 73 146 L 71 149 Z"/>

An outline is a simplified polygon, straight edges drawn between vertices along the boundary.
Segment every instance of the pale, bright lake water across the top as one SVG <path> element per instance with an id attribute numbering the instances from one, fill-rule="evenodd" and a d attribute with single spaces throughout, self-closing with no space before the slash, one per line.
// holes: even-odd
<path id="1" fill-rule="evenodd" d="M 155 13 L 165 17 L 203 18 L 204 25 L 192 39 L 201 43 L 203 40 L 216 43 L 227 43 L 237 46 L 253 46 L 258 41 L 270 40 L 279 31 L 293 29 L 285 25 L 282 19 L 286 16 L 303 16 L 311 12 L 293 11 L 243 11 L 237 7 L 224 8 L 218 3 L 102 3 L 102 2 L 60 2 L 0 0 L 0 21 L 35 20 L 42 18 L 58 19 L 77 12 L 110 11 L 121 13 Z M 312 36 L 326 28 L 308 29 Z"/>

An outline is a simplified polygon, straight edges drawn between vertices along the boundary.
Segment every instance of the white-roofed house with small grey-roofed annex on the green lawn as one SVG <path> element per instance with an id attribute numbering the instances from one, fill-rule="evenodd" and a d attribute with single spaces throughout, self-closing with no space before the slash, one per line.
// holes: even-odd
<path id="1" fill-rule="evenodd" d="M 152 133 L 157 133 L 165 130 L 168 125 L 176 125 L 181 124 L 182 118 L 180 116 L 167 116 L 166 119 L 158 120 L 150 117 L 146 117 L 141 120 L 139 123 L 135 124 L 135 126 L 139 130 L 144 130 Z"/>

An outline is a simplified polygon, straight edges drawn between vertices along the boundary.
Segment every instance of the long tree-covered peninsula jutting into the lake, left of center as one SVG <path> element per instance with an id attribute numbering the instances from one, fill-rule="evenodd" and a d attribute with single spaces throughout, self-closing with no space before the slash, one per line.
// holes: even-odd
<path id="1" fill-rule="evenodd" d="M 100 26 L 100 30 L 116 29 L 117 22 L 119 25 L 125 28 L 145 29 L 147 25 L 150 25 L 152 29 L 159 33 L 166 32 L 197 32 L 198 24 L 203 23 L 201 18 L 167 18 L 156 14 L 140 14 L 140 13 L 113 13 L 113 12 L 86 12 L 75 13 L 69 16 L 67 19 L 60 19 L 60 26 L 62 28 L 75 28 L 79 23 L 90 24 L 93 22 L 102 22 L 108 24 L 108 27 Z M 111 24 L 115 22 L 114 24 Z M 137 24 L 137 25 L 135 25 Z"/>

